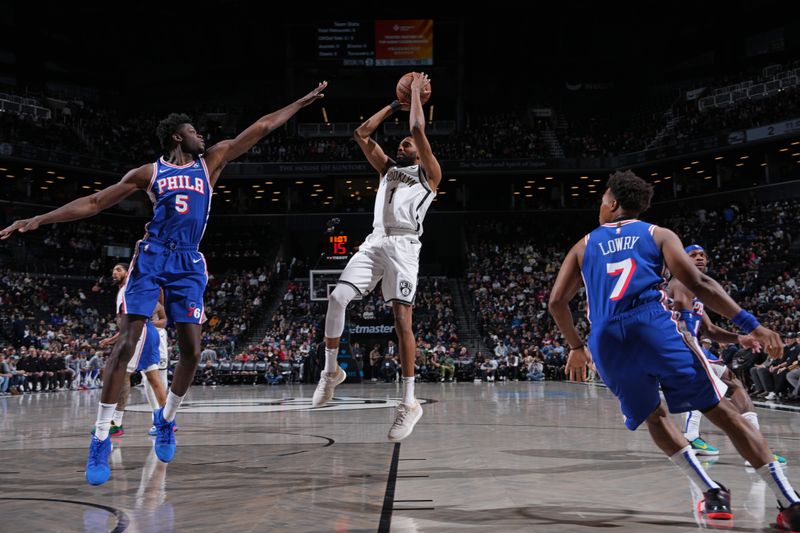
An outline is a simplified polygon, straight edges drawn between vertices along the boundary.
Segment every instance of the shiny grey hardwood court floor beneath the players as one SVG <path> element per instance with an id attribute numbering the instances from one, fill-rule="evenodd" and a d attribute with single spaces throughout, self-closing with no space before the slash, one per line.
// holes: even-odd
<path id="1" fill-rule="evenodd" d="M 682 532 L 698 529 L 689 482 L 623 426 L 602 387 L 420 384 L 425 415 L 386 441 L 399 387 L 193 387 L 178 451 L 160 463 L 134 389 L 111 480 L 83 478 L 98 391 L 0 398 L 0 531 Z M 759 409 L 800 485 L 800 414 Z M 677 420 L 677 419 L 676 419 Z M 733 531 L 771 531 L 774 499 L 727 438 L 707 464 L 733 491 Z"/>

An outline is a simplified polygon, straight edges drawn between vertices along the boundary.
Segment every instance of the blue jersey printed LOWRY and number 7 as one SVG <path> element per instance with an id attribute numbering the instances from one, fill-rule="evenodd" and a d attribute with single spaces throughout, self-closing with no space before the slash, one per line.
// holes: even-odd
<path id="1" fill-rule="evenodd" d="M 653 240 L 655 228 L 639 220 L 624 220 L 603 224 L 584 238 L 581 274 L 590 321 L 666 301 L 664 257 Z"/>

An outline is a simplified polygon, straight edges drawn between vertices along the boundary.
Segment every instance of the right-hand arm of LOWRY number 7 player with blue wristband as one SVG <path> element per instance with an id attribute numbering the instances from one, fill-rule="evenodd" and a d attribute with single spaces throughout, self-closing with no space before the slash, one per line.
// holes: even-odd
<path id="1" fill-rule="evenodd" d="M 728 296 L 719 283 L 697 270 L 677 235 L 666 228 L 656 228 L 653 238 L 661 248 L 667 268 L 687 289 L 697 295 L 705 305 L 730 319 L 744 333 L 751 334 L 766 348 L 770 357 L 777 359 L 783 355 L 780 336 L 759 324 L 753 315 L 740 308 Z"/>

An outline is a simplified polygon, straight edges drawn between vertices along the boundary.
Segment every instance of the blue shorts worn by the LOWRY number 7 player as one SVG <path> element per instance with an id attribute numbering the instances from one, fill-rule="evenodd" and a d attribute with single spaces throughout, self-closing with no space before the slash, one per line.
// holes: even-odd
<path id="1" fill-rule="evenodd" d="M 659 387 L 672 413 L 714 407 L 727 390 L 697 339 L 682 333 L 673 312 L 659 302 L 593 322 L 589 348 L 630 430 L 658 407 Z"/>

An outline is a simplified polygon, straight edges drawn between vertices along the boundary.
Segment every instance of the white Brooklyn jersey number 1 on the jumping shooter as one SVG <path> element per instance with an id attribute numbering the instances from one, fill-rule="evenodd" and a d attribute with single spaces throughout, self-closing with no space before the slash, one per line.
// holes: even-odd
<path id="1" fill-rule="evenodd" d="M 436 193 L 428 185 L 422 167 L 391 167 L 381 176 L 372 227 L 409 230 L 422 235 L 422 221 L 434 196 Z"/>

